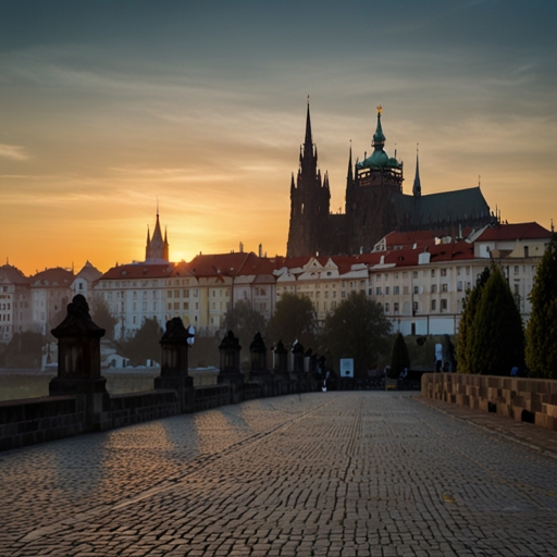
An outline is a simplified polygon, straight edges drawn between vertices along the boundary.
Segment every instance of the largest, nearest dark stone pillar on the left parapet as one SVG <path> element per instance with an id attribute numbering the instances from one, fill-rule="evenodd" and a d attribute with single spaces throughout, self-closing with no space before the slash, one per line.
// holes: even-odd
<path id="1" fill-rule="evenodd" d="M 50 381 L 49 394 L 84 396 L 85 428 L 99 429 L 102 412 L 110 409 L 107 380 L 100 374 L 100 338 L 104 329 L 92 322 L 87 300 L 77 294 L 67 305 L 65 319 L 51 333 L 58 338 L 58 376 Z"/>

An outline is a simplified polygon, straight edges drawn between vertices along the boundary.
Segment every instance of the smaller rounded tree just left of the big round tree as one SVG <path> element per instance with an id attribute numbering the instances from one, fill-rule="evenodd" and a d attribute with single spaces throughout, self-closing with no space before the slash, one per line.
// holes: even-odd
<path id="1" fill-rule="evenodd" d="M 269 321 L 269 337 L 285 345 L 298 339 L 306 348 L 315 343 L 317 318 L 309 298 L 284 293 Z"/>

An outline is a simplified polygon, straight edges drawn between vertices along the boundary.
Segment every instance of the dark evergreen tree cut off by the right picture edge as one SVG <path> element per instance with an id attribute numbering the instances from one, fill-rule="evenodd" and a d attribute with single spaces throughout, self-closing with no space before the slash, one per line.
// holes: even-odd
<path id="1" fill-rule="evenodd" d="M 552 234 L 530 293 L 525 359 L 533 377 L 557 379 L 557 238 Z"/>

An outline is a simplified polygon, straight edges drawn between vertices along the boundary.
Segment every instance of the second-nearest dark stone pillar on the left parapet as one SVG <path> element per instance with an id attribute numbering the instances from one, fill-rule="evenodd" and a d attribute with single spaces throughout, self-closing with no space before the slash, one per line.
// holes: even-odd
<path id="1" fill-rule="evenodd" d="M 181 318 L 166 321 L 166 331 L 160 339 L 161 374 L 154 377 L 154 388 L 177 392 L 183 412 L 195 410 L 194 379 L 187 374 L 188 339 L 193 336 Z"/>

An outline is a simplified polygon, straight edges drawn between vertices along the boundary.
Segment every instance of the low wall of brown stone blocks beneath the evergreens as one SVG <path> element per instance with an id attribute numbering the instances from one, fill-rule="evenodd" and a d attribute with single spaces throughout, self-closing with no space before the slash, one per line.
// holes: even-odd
<path id="1" fill-rule="evenodd" d="M 557 431 L 557 381 L 459 373 L 426 373 L 422 396 Z"/>

